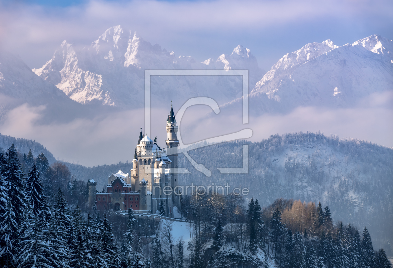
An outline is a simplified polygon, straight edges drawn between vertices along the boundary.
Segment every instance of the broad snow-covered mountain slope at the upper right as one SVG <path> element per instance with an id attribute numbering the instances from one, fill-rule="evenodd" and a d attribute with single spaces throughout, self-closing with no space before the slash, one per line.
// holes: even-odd
<path id="1" fill-rule="evenodd" d="M 393 89 L 393 41 L 372 35 L 353 44 L 331 40 L 287 53 L 250 93 L 258 112 L 297 106 L 351 107 L 374 92 Z"/>

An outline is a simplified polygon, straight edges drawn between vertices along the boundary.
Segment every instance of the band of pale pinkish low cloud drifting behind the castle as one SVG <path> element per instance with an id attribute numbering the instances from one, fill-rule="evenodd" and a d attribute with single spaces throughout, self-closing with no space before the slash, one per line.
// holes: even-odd
<path id="1" fill-rule="evenodd" d="M 356 138 L 393 147 L 393 110 L 386 105 L 386 99 L 389 98 L 382 101 L 382 105 L 380 98 L 370 99 L 371 103 L 377 99 L 379 102 L 376 104 L 379 105 L 347 109 L 298 107 L 285 115 L 250 117 L 250 123 L 244 125 L 241 116 L 207 115 L 208 107 L 196 106 L 187 109 L 180 123 L 180 132 L 184 143 L 190 144 L 244 128 L 252 129 L 253 136 L 249 139 L 252 141 L 261 141 L 276 133 L 319 130 L 327 136 L 333 134 L 340 138 Z M 143 109 L 50 125 L 38 123 L 45 112 L 44 106 L 18 106 L 7 114 L 0 132 L 36 140 L 60 160 L 93 166 L 131 161 L 140 126 L 145 130 Z M 157 136 L 161 147 L 165 147 L 167 112 L 167 109 L 160 108 L 152 110 L 151 138 Z"/>

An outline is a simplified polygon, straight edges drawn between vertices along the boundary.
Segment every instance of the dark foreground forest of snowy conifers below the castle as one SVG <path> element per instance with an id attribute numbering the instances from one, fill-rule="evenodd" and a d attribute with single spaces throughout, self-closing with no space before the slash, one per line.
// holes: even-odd
<path id="1" fill-rule="evenodd" d="M 132 209 L 89 211 L 86 182 L 44 153 L 20 156 L 12 145 L 0 172 L 1 267 L 392 267 L 366 226 L 333 219 L 318 200 L 263 207 L 257 198 L 195 193 L 182 196 L 181 221 L 154 225 Z M 187 232 L 179 236 L 175 224 Z"/>

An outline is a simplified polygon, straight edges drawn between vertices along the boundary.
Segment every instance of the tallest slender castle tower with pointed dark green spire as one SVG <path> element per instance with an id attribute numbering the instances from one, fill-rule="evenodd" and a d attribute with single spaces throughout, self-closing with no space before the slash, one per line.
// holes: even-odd
<path id="1" fill-rule="evenodd" d="M 169 112 L 167 119 L 167 140 L 165 141 L 167 145 L 167 155 L 168 158 L 172 161 L 169 163 L 170 173 L 171 173 L 171 187 L 174 189 L 178 185 L 178 178 L 176 169 L 177 166 L 177 147 L 179 146 L 179 140 L 177 139 L 177 131 L 178 126 L 176 125 L 176 119 L 173 112 L 173 105 L 171 105 L 171 112 Z M 176 189 L 178 192 L 178 189 Z M 174 201 L 174 206 L 178 207 L 180 210 L 180 195 L 175 195 L 173 193 L 172 200 Z"/>

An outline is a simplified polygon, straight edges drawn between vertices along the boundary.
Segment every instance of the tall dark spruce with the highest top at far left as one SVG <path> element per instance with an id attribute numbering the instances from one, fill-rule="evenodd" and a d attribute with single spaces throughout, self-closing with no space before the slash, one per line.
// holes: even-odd
<path id="1" fill-rule="evenodd" d="M 20 167 L 17 150 L 11 145 L 6 153 L 5 181 L 9 200 L 12 203 L 13 213 L 17 224 L 20 223 L 20 216 L 26 207 L 26 193 L 23 181 L 23 173 Z"/>

